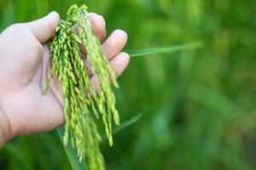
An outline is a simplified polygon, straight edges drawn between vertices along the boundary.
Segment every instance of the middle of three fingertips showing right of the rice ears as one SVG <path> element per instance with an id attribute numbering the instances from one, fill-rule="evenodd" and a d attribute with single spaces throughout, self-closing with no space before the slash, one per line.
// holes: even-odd
<path id="1" fill-rule="evenodd" d="M 114 56 L 120 53 L 125 47 L 127 42 L 127 34 L 125 31 L 116 30 L 108 37 L 108 39 L 103 42 L 102 50 L 103 53 L 107 55 L 108 59 L 113 59 Z"/>

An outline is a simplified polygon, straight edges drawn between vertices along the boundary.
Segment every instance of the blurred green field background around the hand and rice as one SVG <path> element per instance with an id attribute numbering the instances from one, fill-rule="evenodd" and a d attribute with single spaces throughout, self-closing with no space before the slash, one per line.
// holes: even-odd
<path id="1" fill-rule="evenodd" d="M 102 144 L 110 170 L 256 169 L 255 0 L 0 0 L 0 31 L 86 3 L 126 49 L 203 40 L 205 47 L 131 58 L 115 90 L 122 121 Z M 57 133 L 15 139 L 0 169 L 71 169 Z"/>

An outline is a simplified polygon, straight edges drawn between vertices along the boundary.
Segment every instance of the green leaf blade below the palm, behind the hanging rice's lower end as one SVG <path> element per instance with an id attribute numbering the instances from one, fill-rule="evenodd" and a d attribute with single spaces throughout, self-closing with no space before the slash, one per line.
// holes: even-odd
<path id="1" fill-rule="evenodd" d="M 63 144 L 63 147 L 67 153 L 67 157 L 71 164 L 71 167 L 73 168 L 73 170 L 88 170 L 84 159 L 82 160 L 82 162 L 79 161 L 79 157 L 77 156 L 77 150 L 74 149 L 71 146 L 71 144 L 67 144 L 67 145 L 64 144 L 64 141 L 63 141 L 64 130 L 65 130 L 64 127 L 59 127 L 57 129 L 58 134 L 61 138 L 61 143 Z"/>

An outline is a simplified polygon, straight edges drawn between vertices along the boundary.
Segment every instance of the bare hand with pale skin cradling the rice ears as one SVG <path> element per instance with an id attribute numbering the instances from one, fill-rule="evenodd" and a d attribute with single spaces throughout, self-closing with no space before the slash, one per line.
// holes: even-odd
<path id="1" fill-rule="evenodd" d="M 113 31 L 104 41 L 103 17 L 90 13 L 88 18 L 102 42 L 103 53 L 119 77 L 130 60 L 128 54 L 121 52 L 127 42 L 125 31 Z M 59 14 L 51 12 L 39 20 L 9 26 L 0 34 L 0 147 L 9 139 L 49 131 L 65 122 L 61 83 L 54 78 L 49 91 L 43 94 L 50 69 L 47 42 L 54 37 L 59 22 Z M 81 52 L 90 71 L 83 47 Z M 91 72 L 90 80 L 97 88 L 97 77 Z"/>

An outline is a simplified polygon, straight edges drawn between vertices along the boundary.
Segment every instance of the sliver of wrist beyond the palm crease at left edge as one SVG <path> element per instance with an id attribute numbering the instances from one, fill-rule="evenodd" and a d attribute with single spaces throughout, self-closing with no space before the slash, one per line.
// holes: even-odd
<path id="1" fill-rule="evenodd" d="M 0 105 L 0 148 L 10 139 L 10 124 L 9 119 Z"/>

